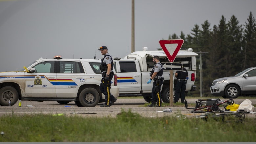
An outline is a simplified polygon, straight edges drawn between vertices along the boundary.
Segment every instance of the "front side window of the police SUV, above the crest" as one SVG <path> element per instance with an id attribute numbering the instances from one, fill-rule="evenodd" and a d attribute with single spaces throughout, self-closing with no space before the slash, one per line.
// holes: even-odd
<path id="1" fill-rule="evenodd" d="M 35 73 L 54 73 L 54 61 L 41 62 L 34 66 Z"/>

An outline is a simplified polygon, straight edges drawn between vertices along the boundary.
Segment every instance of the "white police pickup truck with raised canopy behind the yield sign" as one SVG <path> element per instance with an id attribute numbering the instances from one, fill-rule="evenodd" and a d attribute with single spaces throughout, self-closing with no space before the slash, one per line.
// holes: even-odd
<path id="1" fill-rule="evenodd" d="M 144 47 L 145 48 L 145 47 Z M 180 50 L 174 60 L 174 63 L 182 63 L 183 67 L 188 70 L 188 81 L 186 84 L 185 93 L 189 91 L 195 91 L 196 85 L 194 85 L 196 79 L 196 54 L 188 50 Z M 159 56 L 161 63 L 170 63 L 164 51 L 136 51 L 124 59 L 113 57 L 114 68 L 117 72 L 117 85 L 119 87 L 119 97 L 126 96 L 143 96 L 147 101 L 151 101 L 151 91 L 153 83 L 147 84 L 150 78 L 150 72 L 154 66 L 153 57 Z M 165 68 L 165 64 L 163 65 Z M 174 71 L 175 73 L 176 71 Z M 165 103 L 170 102 L 170 70 L 163 72 L 163 85 L 161 87 L 162 100 Z M 174 87 L 177 79 L 174 77 Z M 174 89 L 175 90 L 175 89 Z M 174 91 L 175 95 L 175 91 Z"/>

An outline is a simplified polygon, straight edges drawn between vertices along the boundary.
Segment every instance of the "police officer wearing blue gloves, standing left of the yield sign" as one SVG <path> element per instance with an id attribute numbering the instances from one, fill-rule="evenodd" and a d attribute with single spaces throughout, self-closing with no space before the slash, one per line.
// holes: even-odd
<path id="1" fill-rule="evenodd" d="M 161 107 L 162 106 L 162 96 L 161 96 L 161 85 L 163 84 L 163 66 L 159 61 L 158 56 L 153 57 L 154 67 L 150 74 L 150 79 L 147 84 L 151 83 L 151 80 L 154 80 L 153 88 L 151 92 L 152 101 L 148 107 Z"/>

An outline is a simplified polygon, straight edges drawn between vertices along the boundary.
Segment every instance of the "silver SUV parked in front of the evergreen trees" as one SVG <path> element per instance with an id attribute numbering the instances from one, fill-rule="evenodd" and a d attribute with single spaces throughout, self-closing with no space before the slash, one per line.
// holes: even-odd
<path id="1" fill-rule="evenodd" d="M 215 79 L 210 91 L 212 95 L 223 98 L 256 95 L 256 67 L 248 68 L 235 76 Z"/>

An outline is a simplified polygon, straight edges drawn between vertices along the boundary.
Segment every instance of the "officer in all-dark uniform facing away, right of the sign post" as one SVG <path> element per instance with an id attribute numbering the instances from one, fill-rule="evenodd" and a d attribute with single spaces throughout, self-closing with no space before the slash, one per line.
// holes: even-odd
<path id="1" fill-rule="evenodd" d="M 185 100 L 185 90 L 186 90 L 186 78 L 188 77 L 187 69 L 182 67 L 181 71 L 176 71 L 175 77 L 177 78 L 177 83 L 175 86 L 175 98 L 174 103 L 179 101 L 179 93 L 181 89 L 181 103 Z"/>

